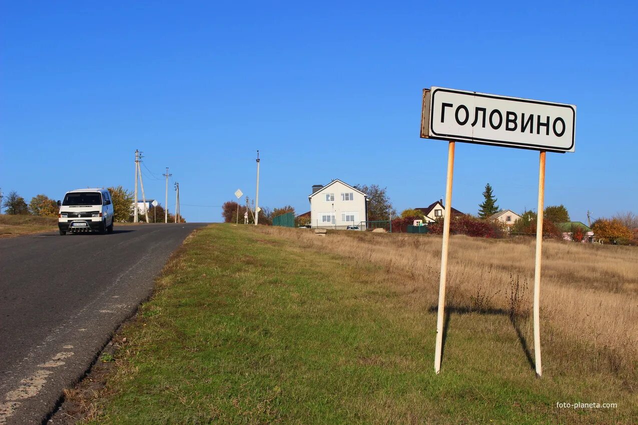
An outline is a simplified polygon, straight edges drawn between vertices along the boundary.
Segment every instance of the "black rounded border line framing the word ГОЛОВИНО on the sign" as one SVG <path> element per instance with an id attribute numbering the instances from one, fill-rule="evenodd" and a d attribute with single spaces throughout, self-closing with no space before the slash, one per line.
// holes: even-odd
<path id="1" fill-rule="evenodd" d="M 570 147 L 568 148 L 556 148 L 556 147 L 547 147 L 547 146 L 543 146 L 543 145 L 533 145 L 531 143 L 516 143 L 516 142 L 512 142 L 512 141 L 503 141 L 503 140 L 492 140 L 492 139 L 481 139 L 481 138 L 468 138 L 466 136 L 457 136 L 456 134 L 439 134 L 436 133 L 436 131 L 434 131 L 434 108 L 430 107 L 430 129 L 431 129 L 431 133 L 434 134 L 435 136 L 438 136 L 439 138 L 441 138 L 441 140 L 449 140 L 454 139 L 454 140 L 461 140 L 461 141 L 467 141 L 469 143 L 478 143 L 479 145 L 496 145 L 496 146 L 506 146 L 506 147 L 516 147 L 516 148 L 522 148 L 522 149 L 533 149 L 533 150 L 547 150 L 547 151 L 551 151 L 551 152 L 560 152 L 561 154 L 564 154 L 565 152 L 567 152 L 568 150 L 570 150 L 571 148 L 574 147 L 574 140 L 575 140 L 575 131 L 576 131 L 576 112 L 574 110 L 574 108 L 572 108 L 571 105 L 568 104 L 560 104 L 560 103 L 551 103 L 551 102 L 542 102 L 542 101 L 535 101 L 535 100 L 530 100 L 530 99 L 516 99 L 516 98 L 512 98 L 512 97 L 507 97 L 507 96 L 494 96 L 491 94 L 480 94 L 480 93 L 475 93 L 475 92 L 464 92 L 461 90 L 451 90 L 451 89 L 434 89 L 431 92 L 431 100 L 430 103 L 431 105 L 434 104 L 434 95 L 436 94 L 436 92 L 438 91 L 443 91 L 443 92 L 448 92 L 448 93 L 456 93 L 456 94 L 466 94 L 466 95 L 470 95 L 470 96 L 478 96 L 478 97 L 489 97 L 490 99 L 503 99 L 503 100 L 508 100 L 508 101 L 514 101 L 514 102 L 523 102 L 523 103 L 535 103 L 535 104 L 546 104 L 549 106 L 559 106 L 561 108 L 569 108 L 570 110 L 572 110 L 572 114 L 573 114 L 573 119 L 572 119 L 572 145 L 570 145 Z"/>

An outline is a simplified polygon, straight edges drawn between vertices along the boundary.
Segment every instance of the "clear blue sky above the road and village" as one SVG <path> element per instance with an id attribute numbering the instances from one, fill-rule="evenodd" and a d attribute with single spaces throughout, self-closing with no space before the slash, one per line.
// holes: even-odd
<path id="1" fill-rule="evenodd" d="M 419 138 L 437 85 L 575 104 L 545 205 L 638 213 L 634 2 L 398 3 L 3 1 L 0 187 L 133 189 L 137 148 L 147 198 L 168 166 L 186 219 L 219 221 L 237 188 L 255 198 L 259 149 L 260 205 L 305 212 L 339 178 L 426 206 L 445 193 L 447 143 Z M 477 213 L 488 182 L 535 208 L 538 152 L 457 143 L 453 206 Z"/>

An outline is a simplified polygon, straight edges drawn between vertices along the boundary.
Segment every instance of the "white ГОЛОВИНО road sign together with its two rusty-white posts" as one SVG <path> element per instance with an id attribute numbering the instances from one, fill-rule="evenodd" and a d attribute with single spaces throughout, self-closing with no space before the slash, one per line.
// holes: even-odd
<path id="1" fill-rule="evenodd" d="M 576 107 L 518 97 L 496 96 L 463 90 L 432 87 L 423 90 L 421 137 L 449 141 L 441 278 L 436 316 L 434 371 L 441 371 L 443 322 L 445 321 L 445 284 L 452 217 L 452 178 L 454 142 L 465 141 L 540 150 L 538 168 L 538 210 L 536 226 L 536 262 L 534 268 L 534 356 L 537 377 L 542 376 L 540 359 L 540 264 L 543 242 L 543 205 L 545 198 L 545 153 L 574 152 Z"/>

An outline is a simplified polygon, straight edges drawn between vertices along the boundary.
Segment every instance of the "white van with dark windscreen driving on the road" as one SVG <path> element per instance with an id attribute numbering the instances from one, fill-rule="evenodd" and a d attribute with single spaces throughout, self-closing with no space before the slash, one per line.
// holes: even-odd
<path id="1" fill-rule="evenodd" d="M 113 231 L 113 203 L 107 189 L 75 189 L 66 192 L 64 201 L 57 201 L 57 205 L 60 234 Z"/>

